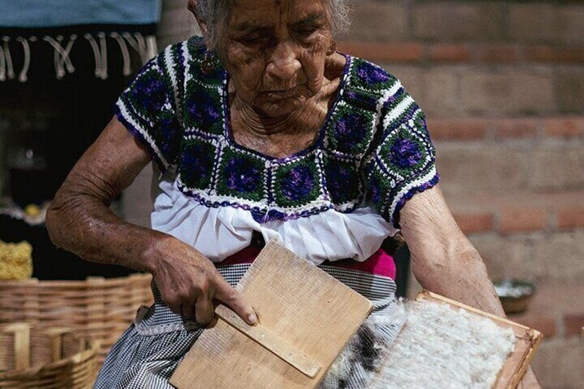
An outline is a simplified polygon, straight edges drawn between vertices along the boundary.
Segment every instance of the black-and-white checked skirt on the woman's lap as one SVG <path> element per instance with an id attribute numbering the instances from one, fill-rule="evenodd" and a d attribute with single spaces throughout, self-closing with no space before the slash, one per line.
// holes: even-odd
<path id="1" fill-rule="evenodd" d="M 235 286 L 250 264 L 218 266 L 229 284 Z M 393 343 L 401 323 L 393 323 L 397 302 L 395 282 L 388 277 L 336 266 L 319 266 L 326 273 L 373 302 L 373 313 L 349 341 L 322 381 L 321 389 L 362 389 L 383 357 L 382 350 Z M 202 333 L 202 328 L 177 315 L 163 302 L 152 283 L 154 304 L 143 308 L 132 326 L 114 344 L 98 375 L 94 389 L 170 389 L 168 382 L 183 356 Z M 375 321 L 375 317 L 384 317 Z M 385 323 L 385 324 L 379 324 Z"/>

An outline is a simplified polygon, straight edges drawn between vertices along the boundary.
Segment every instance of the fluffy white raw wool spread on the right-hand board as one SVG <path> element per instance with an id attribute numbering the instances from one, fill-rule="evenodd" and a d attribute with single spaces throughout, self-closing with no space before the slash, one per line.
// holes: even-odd
<path id="1" fill-rule="evenodd" d="M 371 388 L 491 388 L 514 349 L 510 328 L 459 308 L 409 302 L 407 320 Z"/>

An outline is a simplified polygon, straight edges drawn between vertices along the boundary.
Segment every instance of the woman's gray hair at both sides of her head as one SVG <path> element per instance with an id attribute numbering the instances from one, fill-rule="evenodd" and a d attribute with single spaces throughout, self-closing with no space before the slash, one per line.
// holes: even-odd
<path id="1" fill-rule="evenodd" d="M 351 8 L 348 5 L 350 0 L 325 0 L 331 10 L 331 24 L 333 36 L 342 34 L 348 30 L 351 23 Z M 206 43 L 208 48 L 216 48 L 220 39 L 222 28 L 227 24 L 229 17 L 229 0 L 198 0 L 189 1 L 189 10 L 207 24 Z"/>

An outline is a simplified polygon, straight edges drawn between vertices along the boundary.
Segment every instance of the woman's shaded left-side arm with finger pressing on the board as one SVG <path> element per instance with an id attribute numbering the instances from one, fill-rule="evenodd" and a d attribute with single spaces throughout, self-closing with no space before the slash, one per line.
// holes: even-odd
<path id="1" fill-rule="evenodd" d="M 149 162 L 149 154 L 116 118 L 81 156 L 47 212 L 57 246 L 85 260 L 152 273 L 172 311 L 206 324 L 213 299 L 231 306 L 249 324 L 253 308 L 206 257 L 176 238 L 129 224 L 109 209 Z"/>

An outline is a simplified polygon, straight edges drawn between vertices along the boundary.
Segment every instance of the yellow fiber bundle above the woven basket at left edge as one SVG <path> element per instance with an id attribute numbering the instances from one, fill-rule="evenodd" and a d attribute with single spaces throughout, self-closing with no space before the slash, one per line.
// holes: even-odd
<path id="1" fill-rule="evenodd" d="M 32 275 L 32 246 L 29 242 L 0 240 L 0 280 L 24 280 Z"/>

